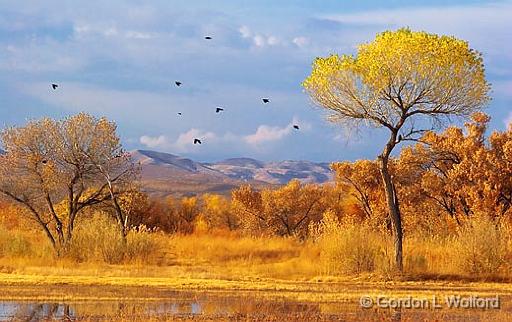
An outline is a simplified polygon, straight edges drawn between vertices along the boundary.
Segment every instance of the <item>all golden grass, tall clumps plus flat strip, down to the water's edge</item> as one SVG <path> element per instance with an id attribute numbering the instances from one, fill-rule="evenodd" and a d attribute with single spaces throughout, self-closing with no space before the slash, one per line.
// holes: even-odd
<path id="1" fill-rule="evenodd" d="M 363 295 L 498 294 L 510 310 L 512 284 L 497 282 L 510 278 L 509 230 L 486 221 L 475 221 L 452 235 L 407 235 L 406 274 L 400 277 L 390 269 L 387 234 L 328 215 L 321 225 L 311 227 L 306 241 L 226 231 L 166 235 L 141 227 L 131 231 L 123 245 L 115 226 L 104 219 L 95 219 L 93 225 L 94 229 L 78 229 L 71 251 L 60 258 L 37 232 L 0 228 L 0 301 L 140 304 L 204 296 L 234 298 L 242 311 L 245 307 L 277 310 L 268 301 L 316 303 L 324 309 L 317 312 L 315 307 L 308 314 L 321 320 L 329 316 L 325 305 L 344 303 L 359 312 Z M 482 244 L 475 236 L 488 238 Z"/>

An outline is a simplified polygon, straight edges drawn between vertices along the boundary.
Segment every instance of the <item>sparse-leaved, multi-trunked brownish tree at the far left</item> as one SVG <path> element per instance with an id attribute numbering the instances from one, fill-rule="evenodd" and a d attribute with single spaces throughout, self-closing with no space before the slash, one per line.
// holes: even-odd
<path id="1" fill-rule="evenodd" d="M 0 194 L 26 209 L 58 254 L 80 213 L 115 202 L 136 178 L 116 125 L 105 118 L 44 118 L 3 130 L 1 140 Z"/>

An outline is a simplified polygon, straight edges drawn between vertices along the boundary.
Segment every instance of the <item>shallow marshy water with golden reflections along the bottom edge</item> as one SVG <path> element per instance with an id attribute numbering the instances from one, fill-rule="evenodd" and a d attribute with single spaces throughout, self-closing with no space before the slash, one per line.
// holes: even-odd
<path id="1" fill-rule="evenodd" d="M 0 301 L 0 321 L 146 321 L 274 320 L 274 321 L 510 321 L 510 306 L 500 310 L 363 309 L 358 303 L 311 303 L 262 294 L 173 292 L 167 299 L 87 301 Z M 510 300 L 507 297 L 507 302 Z M 510 303 L 510 302 L 508 302 Z"/>

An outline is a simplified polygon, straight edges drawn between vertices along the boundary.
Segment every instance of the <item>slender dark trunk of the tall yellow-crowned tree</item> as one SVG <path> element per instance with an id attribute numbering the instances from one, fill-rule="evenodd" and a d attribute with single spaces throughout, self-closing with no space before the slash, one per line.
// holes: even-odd
<path id="1" fill-rule="evenodd" d="M 395 264 L 397 269 L 403 271 L 403 252 L 402 252 L 402 217 L 400 215 L 400 208 L 398 206 L 398 197 L 393 184 L 393 179 L 389 173 L 389 156 L 383 155 L 380 158 L 380 173 L 384 183 L 384 190 L 386 192 L 386 201 L 388 210 L 393 224 L 393 235 L 395 244 Z"/>

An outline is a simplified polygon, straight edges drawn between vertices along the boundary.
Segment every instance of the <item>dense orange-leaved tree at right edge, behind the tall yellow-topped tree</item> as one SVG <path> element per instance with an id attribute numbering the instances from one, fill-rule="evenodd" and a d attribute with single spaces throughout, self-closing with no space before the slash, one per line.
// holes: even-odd
<path id="1" fill-rule="evenodd" d="M 442 133 L 428 132 L 414 146 L 402 151 L 399 163 L 421 168 L 416 192 L 409 203 L 422 206 L 427 198 L 431 212 L 449 215 L 458 225 L 473 215 L 492 218 L 511 213 L 511 129 L 486 138 L 490 118 L 475 113 L 465 129 L 450 127 Z M 412 198 L 411 198 L 412 199 Z"/>

